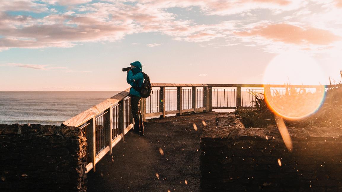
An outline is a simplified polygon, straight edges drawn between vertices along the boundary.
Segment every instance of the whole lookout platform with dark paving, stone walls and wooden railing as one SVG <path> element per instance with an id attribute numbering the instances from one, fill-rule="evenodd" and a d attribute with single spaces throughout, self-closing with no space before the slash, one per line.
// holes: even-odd
<path id="1" fill-rule="evenodd" d="M 288 148 L 276 125 L 247 129 L 240 116 L 218 115 L 251 109 L 265 92 L 340 86 L 152 86 L 140 103 L 144 136 L 130 131 L 129 89 L 61 126 L 2 125 L 0 190 L 342 191 L 340 127 L 288 127 Z"/>

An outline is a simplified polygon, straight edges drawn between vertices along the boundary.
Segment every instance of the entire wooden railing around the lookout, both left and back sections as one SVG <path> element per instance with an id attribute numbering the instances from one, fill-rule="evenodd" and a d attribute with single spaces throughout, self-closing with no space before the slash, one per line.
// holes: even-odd
<path id="1" fill-rule="evenodd" d="M 287 88 L 322 89 L 305 85 L 244 84 L 152 84 L 153 94 L 140 103 L 143 119 L 166 115 L 211 112 L 213 109 L 252 108 L 251 92 L 264 93 L 264 88 L 282 92 Z M 326 89 L 334 85 L 325 86 Z M 76 115 L 62 124 L 80 127 L 87 137 L 87 173 L 133 127 L 129 88 L 106 101 Z"/>

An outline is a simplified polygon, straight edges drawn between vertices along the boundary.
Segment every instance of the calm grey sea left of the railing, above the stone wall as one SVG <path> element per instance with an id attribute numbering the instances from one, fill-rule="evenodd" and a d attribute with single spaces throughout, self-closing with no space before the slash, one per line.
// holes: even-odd
<path id="1" fill-rule="evenodd" d="M 120 91 L 0 91 L 0 124 L 62 122 Z"/>

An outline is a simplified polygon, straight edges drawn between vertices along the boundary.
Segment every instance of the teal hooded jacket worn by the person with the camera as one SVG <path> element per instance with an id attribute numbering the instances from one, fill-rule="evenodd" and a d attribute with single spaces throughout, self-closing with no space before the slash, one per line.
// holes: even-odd
<path id="1" fill-rule="evenodd" d="M 139 73 L 143 71 L 141 63 L 139 61 L 135 61 L 131 63 L 131 65 L 135 68 L 132 68 L 132 70 L 127 73 L 127 83 L 133 87 L 142 87 L 144 83 L 144 75 L 143 73 Z M 129 93 L 141 97 L 139 91 L 135 90 L 133 87 L 131 87 Z"/>

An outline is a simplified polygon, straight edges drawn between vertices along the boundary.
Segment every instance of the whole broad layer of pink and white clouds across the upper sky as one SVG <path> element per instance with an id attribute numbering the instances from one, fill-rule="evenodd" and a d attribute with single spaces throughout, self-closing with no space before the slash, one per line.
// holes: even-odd
<path id="1" fill-rule="evenodd" d="M 74 47 L 83 42 L 116 42 L 129 34 L 148 32 L 168 35 L 177 41 L 220 40 L 216 47 L 237 43 L 257 45 L 257 48 L 268 46 L 265 49 L 286 47 L 286 44 L 304 48 L 325 46 L 340 40 L 341 9 L 337 7 L 341 1 L 40 0 L 37 3 L 35 0 L 0 0 L 0 51 L 14 47 Z M 52 4 L 66 9 L 51 9 Z M 322 9 L 316 10 L 318 5 Z M 181 8 L 192 17 L 183 17 L 169 8 Z M 8 13 L 13 10 L 49 15 Z M 276 15 L 279 13 L 283 14 Z M 234 16 L 221 17 L 224 15 Z M 269 15 L 272 19 L 261 20 Z M 207 18 L 213 19 L 207 22 Z"/>

